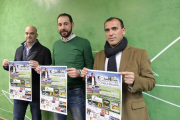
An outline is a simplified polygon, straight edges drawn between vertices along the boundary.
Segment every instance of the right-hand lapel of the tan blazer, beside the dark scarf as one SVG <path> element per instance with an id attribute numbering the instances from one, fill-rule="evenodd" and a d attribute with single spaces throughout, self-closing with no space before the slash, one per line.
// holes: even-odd
<path id="1" fill-rule="evenodd" d="M 131 53 L 131 49 L 127 45 L 127 47 L 122 52 L 121 63 L 120 63 L 120 68 L 119 68 L 120 72 L 125 71 L 126 65 L 128 63 L 128 60 L 129 60 L 130 53 Z"/>

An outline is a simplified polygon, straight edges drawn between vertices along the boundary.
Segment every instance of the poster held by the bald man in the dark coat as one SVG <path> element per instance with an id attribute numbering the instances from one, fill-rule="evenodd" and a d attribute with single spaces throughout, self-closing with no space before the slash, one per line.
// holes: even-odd
<path id="1" fill-rule="evenodd" d="M 9 62 L 9 91 L 11 99 L 32 101 L 31 67 L 28 61 Z"/>

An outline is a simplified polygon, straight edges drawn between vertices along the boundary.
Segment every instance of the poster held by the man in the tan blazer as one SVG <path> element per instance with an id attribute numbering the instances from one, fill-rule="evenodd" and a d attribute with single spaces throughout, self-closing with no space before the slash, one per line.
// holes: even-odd
<path id="1" fill-rule="evenodd" d="M 122 77 L 116 72 L 88 70 L 86 120 L 121 120 Z"/>

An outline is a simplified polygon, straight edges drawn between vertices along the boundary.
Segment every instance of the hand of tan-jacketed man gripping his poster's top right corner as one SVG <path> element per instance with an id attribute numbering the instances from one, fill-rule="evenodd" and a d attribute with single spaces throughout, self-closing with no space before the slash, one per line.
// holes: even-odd
<path id="1" fill-rule="evenodd" d="M 134 73 L 133 72 L 120 72 L 121 75 L 124 76 L 124 82 L 128 85 L 132 85 L 134 83 Z"/>

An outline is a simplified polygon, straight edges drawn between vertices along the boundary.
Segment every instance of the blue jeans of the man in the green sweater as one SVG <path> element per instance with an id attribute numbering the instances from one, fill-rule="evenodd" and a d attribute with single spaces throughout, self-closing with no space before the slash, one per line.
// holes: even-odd
<path id="1" fill-rule="evenodd" d="M 71 112 L 73 120 L 85 120 L 85 95 L 82 88 L 67 91 L 67 107 Z M 58 120 L 66 120 L 66 115 L 55 114 Z"/>

